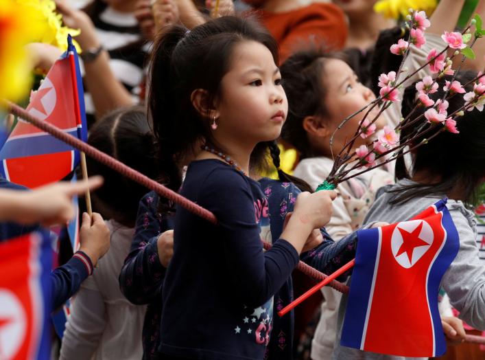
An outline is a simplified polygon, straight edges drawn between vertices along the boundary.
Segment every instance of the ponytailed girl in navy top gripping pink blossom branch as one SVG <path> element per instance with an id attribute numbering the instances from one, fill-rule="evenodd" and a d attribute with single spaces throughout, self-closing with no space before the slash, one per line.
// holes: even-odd
<path id="1" fill-rule="evenodd" d="M 172 27 L 154 45 L 149 106 L 158 156 L 170 170 L 165 183 L 180 185 L 178 164 L 203 144 L 181 194 L 218 221 L 176 207 L 163 284 L 163 359 L 263 359 L 272 295 L 311 232 L 328 221 L 333 192 L 300 194 L 281 238 L 263 252 L 267 201 L 246 174 L 255 146 L 276 139 L 285 121 L 276 63 L 274 39 L 233 17 L 191 32 Z"/>

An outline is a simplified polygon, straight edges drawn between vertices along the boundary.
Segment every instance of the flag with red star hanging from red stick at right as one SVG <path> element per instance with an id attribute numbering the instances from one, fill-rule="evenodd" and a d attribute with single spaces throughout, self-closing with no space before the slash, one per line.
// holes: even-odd
<path id="1" fill-rule="evenodd" d="M 460 246 L 446 200 L 357 237 L 340 344 L 403 357 L 444 354 L 438 290 Z"/>

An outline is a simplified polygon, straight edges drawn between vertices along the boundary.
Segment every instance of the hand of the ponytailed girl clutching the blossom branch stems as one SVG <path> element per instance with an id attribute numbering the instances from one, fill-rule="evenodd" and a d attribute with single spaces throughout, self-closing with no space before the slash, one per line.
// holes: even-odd
<path id="1" fill-rule="evenodd" d="M 293 218 L 297 218 L 302 225 L 313 229 L 320 229 L 330 221 L 332 216 L 332 201 L 337 196 L 333 190 L 325 190 L 310 194 L 302 192 L 296 198 Z"/>

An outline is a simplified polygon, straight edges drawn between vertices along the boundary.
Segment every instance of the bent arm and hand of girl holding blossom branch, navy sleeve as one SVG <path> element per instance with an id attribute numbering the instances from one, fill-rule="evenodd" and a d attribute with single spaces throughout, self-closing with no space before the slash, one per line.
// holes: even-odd
<path id="1" fill-rule="evenodd" d="M 218 260 L 233 278 L 228 286 L 247 306 L 260 306 L 292 273 L 310 232 L 328 221 L 335 193 L 300 194 L 281 238 L 263 253 L 250 185 L 230 169 L 213 172 L 208 179 L 200 185 L 198 203 L 217 217 L 216 234 L 224 251 Z"/>

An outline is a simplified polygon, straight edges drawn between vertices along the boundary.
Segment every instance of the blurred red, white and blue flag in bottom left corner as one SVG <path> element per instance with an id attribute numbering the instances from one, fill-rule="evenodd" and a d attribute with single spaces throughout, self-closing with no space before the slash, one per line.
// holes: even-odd
<path id="1" fill-rule="evenodd" d="M 49 359 L 51 266 L 47 233 L 0 243 L 0 359 Z"/>

